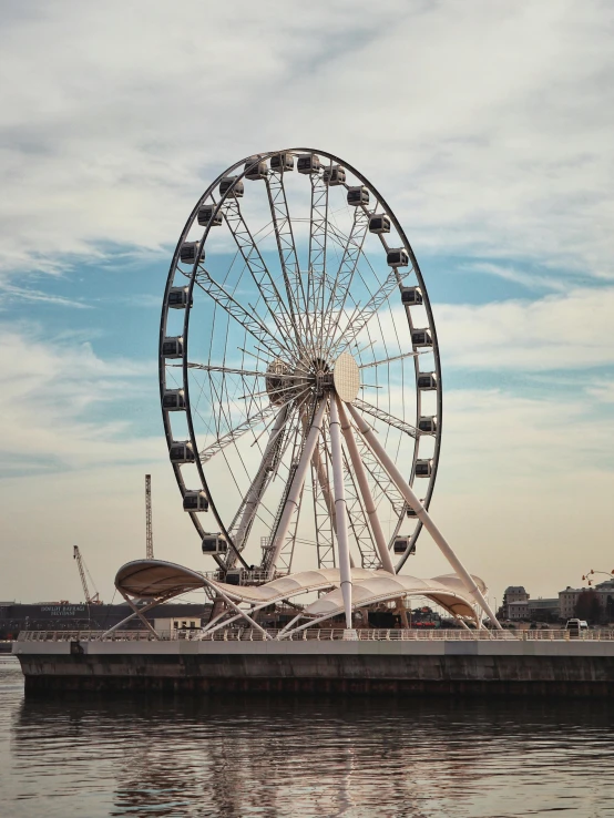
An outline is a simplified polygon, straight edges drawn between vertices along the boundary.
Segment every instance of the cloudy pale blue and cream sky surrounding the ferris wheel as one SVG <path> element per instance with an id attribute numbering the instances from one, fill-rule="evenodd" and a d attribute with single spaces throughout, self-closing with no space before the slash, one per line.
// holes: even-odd
<path id="1" fill-rule="evenodd" d="M 614 569 L 614 6 L 0 0 L 0 600 L 203 565 L 167 462 L 173 248 L 242 156 L 307 145 L 382 192 L 442 356 L 431 511 L 491 600 Z M 446 568 L 422 535 L 411 573 Z M 406 570 L 407 571 L 407 570 Z M 605 577 L 602 577 L 605 579 Z"/>

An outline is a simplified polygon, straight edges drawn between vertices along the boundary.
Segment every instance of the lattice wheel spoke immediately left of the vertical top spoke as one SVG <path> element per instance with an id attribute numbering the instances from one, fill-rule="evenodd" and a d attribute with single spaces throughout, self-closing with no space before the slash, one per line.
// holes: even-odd
<path id="1" fill-rule="evenodd" d="M 296 252 L 293 223 L 288 212 L 286 188 L 284 186 L 284 172 L 269 170 L 265 184 L 268 196 L 268 206 L 270 208 L 270 217 L 275 228 L 279 264 L 282 265 L 284 284 L 286 287 L 286 297 L 295 317 L 296 325 L 300 333 L 303 333 L 305 329 L 303 319 L 305 316 L 306 296 L 303 279 L 300 277 L 300 265 L 298 262 L 298 254 Z M 297 337 L 297 341 L 299 340 L 299 337 L 300 336 Z"/>

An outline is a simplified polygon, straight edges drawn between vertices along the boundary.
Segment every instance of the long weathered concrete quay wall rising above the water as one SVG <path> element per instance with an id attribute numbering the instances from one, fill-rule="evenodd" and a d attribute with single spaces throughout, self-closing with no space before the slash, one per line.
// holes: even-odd
<path id="1" fill-rule="evenodd" d="M 16 643 L 29 694 L 288 692 L 614 696 L 614 643 Z"/>

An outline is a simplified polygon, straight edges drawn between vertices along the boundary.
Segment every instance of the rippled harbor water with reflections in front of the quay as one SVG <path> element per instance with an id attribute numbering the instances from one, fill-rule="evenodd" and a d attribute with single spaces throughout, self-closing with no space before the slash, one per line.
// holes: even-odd
<path id="1" fill-rule="evenodd" d="M 614 816 L 604 701 L 23 696 L 0 657 L 2 818 Z"/>

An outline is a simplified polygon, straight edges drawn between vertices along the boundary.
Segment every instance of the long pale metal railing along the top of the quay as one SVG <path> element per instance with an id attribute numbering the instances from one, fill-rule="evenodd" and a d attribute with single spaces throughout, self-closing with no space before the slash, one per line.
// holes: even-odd
<path id="1" fill-rule="evenodd" d="M 279 630 L 268 630 L 267 636 L 276 638 Z M 464 630 L 376 630 L 359 628 L 355 632 L 355 640 L 359 642 L 544 642 L 544 641 L 576 641 L 612 642 L 614 631 L 595 630 L 575 634 L 570 631 L 464 631 Z M 206 642 L 262 642 L 265 635 L 262 631 L 250 627 L 221 628 L 212 633 L 203 633 L 201 628 L 158 631 L 158 640 L 175 641 L 206 641 Z M 344 628 L 310 627 L 297 633 L 285 635 L 291 642 L 331 642 L 347 640 Z M 104 631 L 21 631 L 19 642 L 155 642 L 156 637 L 149 631 L 114 631 L 104 636 Z"/>

